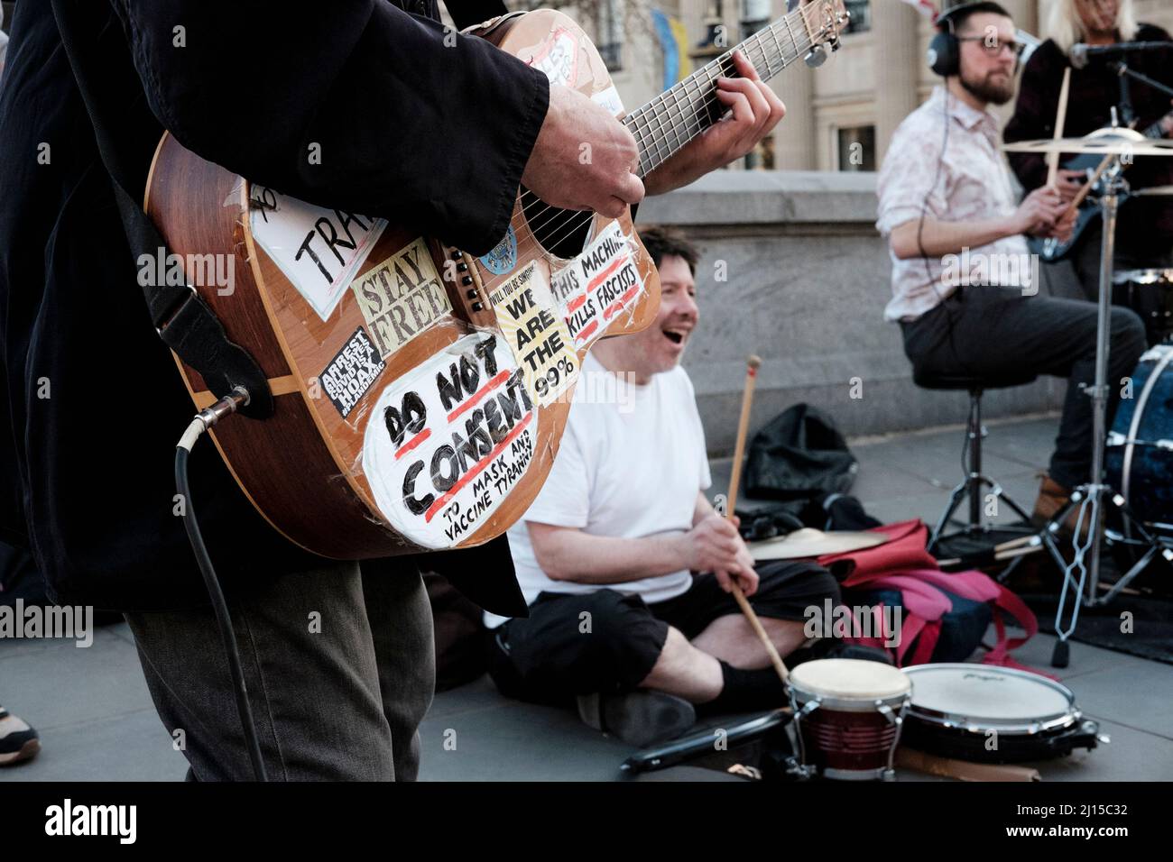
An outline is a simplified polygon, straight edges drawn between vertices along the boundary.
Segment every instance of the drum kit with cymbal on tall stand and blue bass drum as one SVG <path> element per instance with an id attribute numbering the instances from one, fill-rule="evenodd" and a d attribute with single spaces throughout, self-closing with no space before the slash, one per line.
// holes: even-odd
<path id="1" fill-rule="evenodd" d="M 1060 104 L 1060 113 L 1064 106 Z M 1113 110 L 1114 116 L 1114 110 Z M 1143 385 L 1141 398 L 1135 402 L 1121 400 L 1112 434 L 1107 429 L 1110 381 L 1107 380 L 1108 334 L 1113 292 L 1125 299 L 1145 320 L 1151 344 L 1168 340 L 1173 333 L 1173 271 L 1133 270 L 1113 272 L 1117 213 L 1120 203 L 1134 194 L 1167 195 L 1171 186 L 1151 188 L 1132 192 L 1124 178 L 1124 169 L 1134 157 L 1173 156 L 1173 141 L 1153 140 L 1127 128 L 1100 129 L 1078 138 L 1057 137 L 1043 141 L 1022 141 L 1005 144 L 1012 152 L 1049 155 L 1053 164 L 1060 152 L 1094 154 L 1103 158 L 1090 181 L 1098 194 L 1103 217 L 1100 240 L 1099 300 L 1096 339 L 1096 382 L 1087 387 L 1092 399 L 1092 471 L 1091 481 L 1076 488 L 1067 505 L 1063 507 L 1030 544 L 1042 545 L 1064 572 L 1063 588 L 1056 611 L 1058 640 L 1051 664 L 1066 667 L 1067 639 L 1079 620 L 1080 606 L 1110 603 L 1158 555 L 1173 561 L 1173 505 L 1169 503 L 1168 480 L 1173 475 L 1173 421 L 1168 415 L 1169 402 L 1159 395 L 1161 376 L 1173 347 L 1159 345 L 1141 360 L 1133 375 L 1133 387 Z M 1106 457 L 1105 457 L 1106 456 Z M 1166 464 L 1171 466 L 1166 466 Z M 1108 473 L 1105 473 L 1107 466 Z M 1164 471 L 1162 471 L 1164 470 Z M 1114 517 L 1107 521 L 1108 505 Z M 1076 509 L 1077 522 L 1072 531 L 1073 554 L 1065 558 L 1060 551 L 1060 525 Z M 1119 525 L 1119 527 L 1118 527 Z M 1131 568 L 1111 588 L 1101 589 L 1101 539 L 1126 547 L 1133 552 Z M 1073 596 L 1071 593 L 1074 593 Z M 1066 622 L 1064 618 L 1066 617 Z"/>

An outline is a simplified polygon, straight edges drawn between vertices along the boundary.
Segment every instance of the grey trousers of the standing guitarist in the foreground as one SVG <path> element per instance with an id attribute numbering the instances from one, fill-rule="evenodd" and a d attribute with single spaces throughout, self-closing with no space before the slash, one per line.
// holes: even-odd
<path id="1" fill-rule="evenodd" d="M 271 781 L 415 779 L 435 645 L 414 566 L 324 561 L 229 608 Z M 188 780 L 251 780 L 211 609 L 127 622 Z"/>

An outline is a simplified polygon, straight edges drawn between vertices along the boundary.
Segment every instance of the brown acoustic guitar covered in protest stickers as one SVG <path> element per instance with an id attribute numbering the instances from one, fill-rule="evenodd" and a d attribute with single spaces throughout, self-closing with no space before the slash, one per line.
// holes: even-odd
<path id="1" fill-rule="evenodd" d="M 769 79 L 825 56 L 846 20 L 838 0 L 818 0 L 738 47 Z M 625 113 L 565 15 L 504 15 L 469 32 L 621 117 L 640 176 L 721 118 L 714 82 L 735 74 L 728 52 Z M 212 430 L 221 455 L 277 530 L 326 557 L 501 535 L 549 473 L 586 351 L 644 328 L 659 304 L 630 211 L 556 210 L 526 190 L 508 233 L 474 257 L 406 224 L 250 183 L 164 135 L 144 206 L 274 395 L 271 418 Z M 230 292 L 199 272 L 218 259 L 232 265 Z M 208 386 L 176 361 L 206 407 Z"/>

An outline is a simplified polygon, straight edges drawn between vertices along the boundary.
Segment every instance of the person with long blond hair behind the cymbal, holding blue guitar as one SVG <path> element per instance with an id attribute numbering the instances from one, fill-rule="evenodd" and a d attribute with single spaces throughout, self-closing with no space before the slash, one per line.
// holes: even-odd
<path id="1" fill-rule="evenodd" d="M 1071 67 L 1070 52 L 1077 42 L 1114 45 L 1132 41 L 1168 41 L 1160 27 L 1139 23 L 1132 0 L 1056 0 L 1047 21 L 1050 36 L 1031 55 L 1023 69 L 1013 116 L 1006 124 L 1005 141 L 1047 138 L 1055 134 L 1056 106 L 1064 70 Z M 1078 137 L 1112 123 L 1118 109 L 1121 125 L 1130 122 L 1138 131 L 1154 137 L 1173 133 L 1168 96 L 1138 81 L 1121 79 L 1112 63 L 1124 60 L 1128 67 L 1166 84 L 1173 84 L 1173 50 L 1144 50 L 1124 56 L 1092 55 L 1085 68 L 1071 68 L 1067 114 L 1063 134 Z M 1121 82 L 1128 90 L 1131 114 L 1121 100 Z M 1010 165 L 1026 191 L 1046 182 L 1046 159 L 1042 155 L 1010 152 Z M 1084 171 L 1063 168 L 1060 158 L 1057 188 L 1070 202 L 1086 181 Z M 1173 158 L 1138 157 L 1125 178 L 1133 189 L 1173 183 Z M 1084 206 L 1094 206 L 1085 202 Z M 1101 225 L 1097 217 L 1074 240 L 1072 264 L 1084 293 L 1099 296 Z M 1125 201 L 1116 229 L 1117 271 L 1173 266 L 1173 197 L 1140 197 Z"/>

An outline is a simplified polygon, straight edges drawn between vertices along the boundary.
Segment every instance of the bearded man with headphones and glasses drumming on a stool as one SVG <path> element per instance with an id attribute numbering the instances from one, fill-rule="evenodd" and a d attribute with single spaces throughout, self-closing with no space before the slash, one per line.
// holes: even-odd
<path id="1" fill-rule="evenodd" d="M 1015 90 L 1022 45 L 1010 14 L 996 2 L 975 2 L 942 15 L 937 27 L 957 36 L 960 68 L 904 117 L 877 181 L 876 228 L 891 250 L 884 318 L 900 323 L 918 375 L 1067 378 L 1055 454 L 1035 504 L 1042 524 L 1091 478 L 1092 405 L 1084 387 L 1096 379 L 1097 307 L 1042 296 L 1033 283 L 1040 279 L 1031 276 L 1038 266 L 1025 235 L 1069 237 L 1072 218 L 1052 186 L 1035 189 L 1017 206 L 1011 197 L 990 109 Z M 1145 349 L 1145 328 L 1123 307 L 1112 308 L 1110 327 L 1114 410 L 1121 379 Z M 1077 515 L 1072 509 L 1065 525 Z"/>

